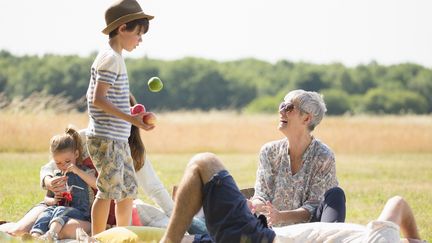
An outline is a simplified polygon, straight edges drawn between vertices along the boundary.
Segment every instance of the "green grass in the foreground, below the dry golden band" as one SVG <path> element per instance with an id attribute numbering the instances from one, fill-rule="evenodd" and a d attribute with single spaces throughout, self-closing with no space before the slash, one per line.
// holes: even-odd
<path id="1" fill-rule="evenodd" d="M 149 154 L 171 192 L 192 154 Z M 254 185 L 256 153 L 220 154 L 239 187 Z M 0 153 L 0 220 L 15 221 L 42 200 L 39 169 L 46 153 Z M 420 234 L 432 240 L 432 153 L 338 154 L 337 175 L 347 196 L 347 221 L 367 223 L 387 198 L 403 196 L 412 206 Z M 146 201 L 143 194 L 140 197 Z"/>

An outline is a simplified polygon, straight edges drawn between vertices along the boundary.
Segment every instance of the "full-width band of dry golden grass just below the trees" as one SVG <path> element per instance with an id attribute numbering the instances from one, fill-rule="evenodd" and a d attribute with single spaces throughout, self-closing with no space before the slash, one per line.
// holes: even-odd
<path id="1" fill-rule="evenodd" d="M 70 123 L 84 128 L 87 115 L 0 112 L 0 152 L 47 151 L 50 137 Z M 277 124 L 277 115 L 174 112 L 158 114 L 156 129 L 142 135 L 151 152 L 253 153 L 282 138 Z M 336 153 L 432 151 L 432 116 L 326 117 L 314 133 Z"/>

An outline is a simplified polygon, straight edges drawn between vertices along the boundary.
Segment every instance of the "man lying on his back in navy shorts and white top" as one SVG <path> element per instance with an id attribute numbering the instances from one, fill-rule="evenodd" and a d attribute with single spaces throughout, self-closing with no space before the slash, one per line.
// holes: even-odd
<path id="1" fill-rule="evenodd" d="M 407 202 L 395 196 L 367 226 L 305 223 L 267 228 L 253 214 L 222 162 L 211 153 L 195 155 L 179 185 L 168 228 L 161 242 L 424 242 Z M 204 209 L 209 234 L 185 235 L 193 216 Z M 271 219 L 270 219 L 271 220 Z"/>

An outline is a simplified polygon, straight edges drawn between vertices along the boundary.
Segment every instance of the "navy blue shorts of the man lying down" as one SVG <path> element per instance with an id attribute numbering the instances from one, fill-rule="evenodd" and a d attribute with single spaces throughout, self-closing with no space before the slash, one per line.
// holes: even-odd
<path id="1" fill-rule="evenodd" d="M 203 209 L 211 241 L 269 243 L 276 236 L 251 213 L 246 198 L 226 170 L 205 184 Z M 209 242 L 209 237 L 195 237 L 194 242 Z"/>

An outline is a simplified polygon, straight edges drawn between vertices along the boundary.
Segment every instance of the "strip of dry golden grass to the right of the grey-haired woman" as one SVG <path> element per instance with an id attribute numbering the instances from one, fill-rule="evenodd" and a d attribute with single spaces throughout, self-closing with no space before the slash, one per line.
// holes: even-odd
<path id="1" fill-rule="evenodd" d="M 328 117 L 317 137 L 336 152 L 431 152 L 432 116 Z"/>

